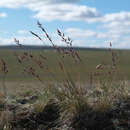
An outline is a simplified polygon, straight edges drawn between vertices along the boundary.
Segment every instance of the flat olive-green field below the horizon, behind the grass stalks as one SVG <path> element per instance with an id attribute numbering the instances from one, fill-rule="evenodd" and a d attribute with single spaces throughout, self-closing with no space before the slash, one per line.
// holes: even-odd
<path id="1" fill-rule="evenodd" d="M 17 51 L 18 54 L 22 54 L 23 51 Z M 38 65 L 34 65 L 30 60 L 24 61 L 23 65 L 20 65 L 17 61 L 17 58 L 14 56 L 13 50 L 0 50 L 0 58 L 7 61 L 7 66 L 9 73 L 7 74 L 7 81 L 25 81 L 25 80 L 34 80 L 30 75 L 23 74 L 23 68 L 28 66 L 33 66 L 37 73 L 40 75 L 42 80 L 62 80 L 64 79 L 64 74 L 60 70 L 57 63 L 57 54 L 55 51 L 29 51 L 37 59 L 39 59 L 39 54 L 43 54 L 48 58 L 47 65 L 49 67 L 49 72 L 45 69 L 39 69 Z M 122 50 L 117 51 L 119 56 L 118 60 L 118 78 L 130 80 L 130 51 Z M 111 64 L 111 53 L 109 51 L 79 51 L 79 55 L 82 59 L 82 62 L 75 63 L 71 57 L 67 56 L 64 58 L 65 68 L 71 74 L 73 79 L 80 79 L 82 81 L 89 79 L 89 74 L 95 72 L 96 65 L 100 63 Z M 42 61 L 42 60 L 41 60 Z M 0 80 L 2 79 L 2 72 L 0 72 Z"/>

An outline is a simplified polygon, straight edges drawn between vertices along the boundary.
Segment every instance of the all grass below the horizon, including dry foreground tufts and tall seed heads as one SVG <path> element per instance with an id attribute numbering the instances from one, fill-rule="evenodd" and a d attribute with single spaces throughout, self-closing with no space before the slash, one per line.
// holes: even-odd
<path id="1" fill-rule="evenodd" d="M 24 84 L 18 93 L 9 95 L 10 84 L 1 78 L 1 129 L 128 130 L 130 51 L 77 52 L 72 49 L 72 40 L 57 29 L 61 40 L 70 47 L 64 50 L 37 24 L 56 51 L 42 53 L 45 58 L 40 58 L 40 51 L 14 50 L 15 56 L 12 51 L 1 51 L 1 77 L 6 76 L 7 82 L 35 85 L 33 79 L 38 79 L 41 83 L 41 88 Z M 38 34 L 30 33 L 42 41 Z M 15 42 L 21 46 L 19 40 Z M 14 86 L 14 91 L 17 88 Z"/>

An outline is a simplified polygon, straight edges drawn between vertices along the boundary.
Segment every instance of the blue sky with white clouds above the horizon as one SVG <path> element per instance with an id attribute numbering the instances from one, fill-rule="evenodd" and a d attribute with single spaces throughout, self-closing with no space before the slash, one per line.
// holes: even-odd
<path id="1" fill-rule="evenodd" d="M 56 45 L 57 28 L 73 46 L 130 49 L 130 0 L 0 0 L 0 45 L 50 45 L 37 27 L 43 25 Z M 29 31 L 39 34 L 43 42 Z"/>

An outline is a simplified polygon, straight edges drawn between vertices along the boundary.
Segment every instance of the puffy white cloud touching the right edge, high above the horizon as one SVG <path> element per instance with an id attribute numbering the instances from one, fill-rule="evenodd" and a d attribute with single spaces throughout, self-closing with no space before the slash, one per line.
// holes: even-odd
<path id="1" fill-rule="evenodd" d="M 111 34 L 130 34 L 130 12 L 106 14 L 102 22 Z"/>

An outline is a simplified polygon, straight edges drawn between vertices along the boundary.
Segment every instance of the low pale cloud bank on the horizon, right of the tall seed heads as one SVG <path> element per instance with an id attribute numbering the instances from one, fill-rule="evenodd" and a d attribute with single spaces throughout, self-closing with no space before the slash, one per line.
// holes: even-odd
<path id="1" fill-rule="evenodd" d="M 109 43 L 112 42 L 114 48 L 130 47 L 130 31 L 128 30 L 127 33 L 125 30 L 118 31 L 108 29 L 102 32 L 102 30 L 95 31 L 80 28 L 69 28 L 65 30 L 66 34 L 74 39 L 73 45 L 76 46 L 109 47 Z"/>

